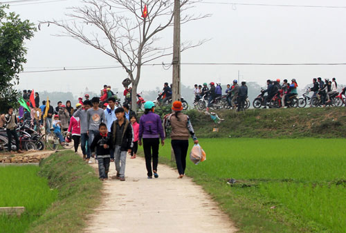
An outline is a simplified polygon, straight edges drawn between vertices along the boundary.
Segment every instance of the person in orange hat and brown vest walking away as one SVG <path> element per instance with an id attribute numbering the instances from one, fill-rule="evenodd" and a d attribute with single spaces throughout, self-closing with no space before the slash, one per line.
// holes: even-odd
<path id="1" fill-rule="evenodd" d="M 198 144 L 194 129 L 188 115 L 183 114 L 183 104 L 181 101 L 174 101 L 172 110 L 174 113 L 165 118 L 165 128 L 171 127 L 171 143 L 174 151 L 176 168 L 178 168 L 178 179 L 182 179 L 185 175 L 186 155 L 189 148 L 189 136 L 192 136 L 194 144 Z"/>

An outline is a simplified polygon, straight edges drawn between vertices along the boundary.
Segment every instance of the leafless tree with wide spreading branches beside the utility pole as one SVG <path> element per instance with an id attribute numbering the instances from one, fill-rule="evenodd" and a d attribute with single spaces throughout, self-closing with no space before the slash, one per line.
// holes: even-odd
<path id="1" fill-rule="evenodd" d="M 209 17 L 193 15 L 186 10 L 199 0 L 181 0 L 181 23 Z M 69 8 L 66 14 L 74 21 L 47 21 L 64 28 L 60 36 L 73 37 L 116 59 L 125 69 L 132 83 L 132 109 L 136 110 L 136 94 L 143 65 L 172 55 L 172 43 L 159 46 L 159 32 L 173 26 L 172 0 L 82 0 L 84 6 Z M 144 9 L 147 12 L 144 12 Z M 88 27 L 86 27 L 88 26 Z M 90 26 L 93 26 L 90 28 Z M 181 51 L 204 43 L 185 42 Z"/>

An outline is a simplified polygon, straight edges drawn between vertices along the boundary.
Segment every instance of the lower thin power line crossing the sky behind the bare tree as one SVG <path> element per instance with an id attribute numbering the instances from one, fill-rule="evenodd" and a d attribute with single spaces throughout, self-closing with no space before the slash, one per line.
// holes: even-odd
<path id="1" fill-rule="evenodd" d="M 143 64 L 143 66 L 157 66 L 157 65 L 172 65 L 172 63 L 151 63 Z M 346 63 L 181 63 L 181 65 L 346 65 Z M 80 67 L 80 68 L 57 68 L 52 70 L 32 70 L 24 71 L 21 73 L 40 73 L 40 72 L 60 72 L 60 71 L 76 71 L 76 70 L 106 70 L 122 68 L 121 65 L 118 66 L 102 66 L 102 67 Z M 30 68 L 24 68 L 30 69 Z"/>

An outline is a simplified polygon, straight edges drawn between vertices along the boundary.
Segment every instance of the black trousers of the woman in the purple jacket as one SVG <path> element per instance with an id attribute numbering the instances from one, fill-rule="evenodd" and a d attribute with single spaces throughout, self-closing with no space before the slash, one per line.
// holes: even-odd
<path id="1" fill-rule="evenodd" d="M 143 150 L 147 175 L 152 176 L 152 168 L 157 172 L 159 139 L 143 139 Z"/>

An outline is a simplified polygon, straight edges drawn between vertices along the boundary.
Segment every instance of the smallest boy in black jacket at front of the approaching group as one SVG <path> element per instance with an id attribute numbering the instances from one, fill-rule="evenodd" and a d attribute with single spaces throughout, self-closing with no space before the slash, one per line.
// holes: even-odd
<path id="1" fill-rule="evenodd" d="M 108 179 L 109 164 L 111 160 L 114 161 L 113 154 L 110 154 L 110 150 L 113 147 L 111 136 L 107 134 L 107 125 L 100 123 L 98 127 L 100 134 L 95 135 L 93 142 L 90 145 L 92 154 L 98 155 L 98 173 L 100 180 L 104 181 Z"/>

